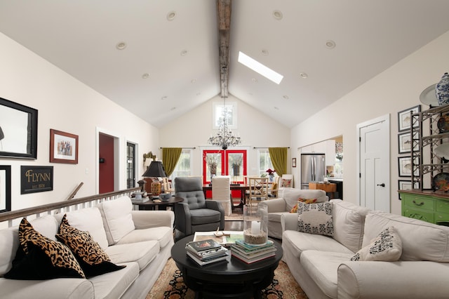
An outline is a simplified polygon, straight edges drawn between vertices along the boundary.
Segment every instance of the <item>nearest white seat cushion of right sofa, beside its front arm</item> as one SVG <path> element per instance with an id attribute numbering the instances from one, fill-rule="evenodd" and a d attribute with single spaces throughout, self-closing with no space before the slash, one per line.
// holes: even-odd
<path id="1" fill-rule="evenodd" d="M 302 253 L 300 263 L 326 298 L 337 298 L 337 270 L 350 258 L 348 253 L 311 250 Z"/>

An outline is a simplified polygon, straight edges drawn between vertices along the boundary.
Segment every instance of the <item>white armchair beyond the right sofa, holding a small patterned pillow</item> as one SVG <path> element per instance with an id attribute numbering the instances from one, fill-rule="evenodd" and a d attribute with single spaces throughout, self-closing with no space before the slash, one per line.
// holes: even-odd
<path id="1" fill-rule="evenodd" d="M 281 215 L 290 213 L 297 204 L 298 199 L 316 199 L 316 202 L 328 201 L 323 190 L 305 190 L 290 187 L 281 187 L 276 199 L 260 201 L 261 206 L 267 206 L 268 235 L 272 238 L 282 239 Z"/>

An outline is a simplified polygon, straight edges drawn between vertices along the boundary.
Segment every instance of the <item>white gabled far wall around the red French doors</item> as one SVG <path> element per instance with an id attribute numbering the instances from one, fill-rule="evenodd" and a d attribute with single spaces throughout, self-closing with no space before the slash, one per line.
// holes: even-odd
<path id="1" fill-rule="evenodd" d="M 159 131 L 161 147 L 196 147 L 193 151 L 193 175 L 201 175 L 201 149 L 217 149 L 207 143 L 210 135 L 217 133 L 217 130 L 213 130 L 214 102 L 222 104 L 223 100 L 217 95 L 170 124 L 166 124 Z M 232 147 L 229 150 L 248 150 L 248 175 L 255 175 L 258 162 L 257 150 L 253 150 L 253 147 L 289 147 L 290 128 L 279 124 L 233 95 L 229 95 L 227 102 L 237 103 L 238 128 L 233 131 L 238 133 L 242 140 L 239 147 Z M 290 169 L 290 151 L 288 169 Z"/>

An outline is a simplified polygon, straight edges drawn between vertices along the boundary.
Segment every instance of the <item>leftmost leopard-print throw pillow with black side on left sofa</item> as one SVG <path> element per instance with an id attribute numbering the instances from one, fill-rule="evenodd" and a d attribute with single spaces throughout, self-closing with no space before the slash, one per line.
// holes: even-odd
<path id="1" fill-rule="evenodd" d="M 26 218 L 19 225 L 19 248 L 9 279 L 86 278 L 67 246 L 36 232 Z"/>

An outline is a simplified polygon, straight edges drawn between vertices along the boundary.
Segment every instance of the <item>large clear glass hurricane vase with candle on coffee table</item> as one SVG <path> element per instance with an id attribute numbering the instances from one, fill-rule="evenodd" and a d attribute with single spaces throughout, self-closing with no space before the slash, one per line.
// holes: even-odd
<path id="1" fill-rule="evenodd" d="M 243 240 L 246 244 L 260 245 L 268 241 L 267 206 L 243 206 Z"/>

